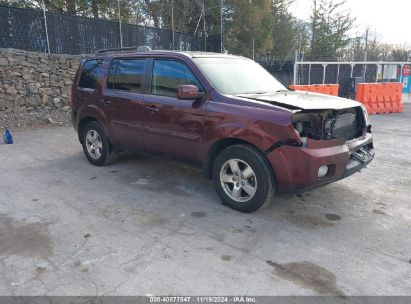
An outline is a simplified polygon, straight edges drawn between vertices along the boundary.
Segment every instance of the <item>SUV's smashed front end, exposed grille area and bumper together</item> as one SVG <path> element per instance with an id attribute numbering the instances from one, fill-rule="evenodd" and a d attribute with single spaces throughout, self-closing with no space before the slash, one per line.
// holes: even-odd
<path id="1" fill-rule="evenodd" d="M 318 187 L 347 177 L 374 158 L 371 125 L 362 106 L 299 110 L 292 116 L 299 143 L 267 155 L 282 190 Z"/>

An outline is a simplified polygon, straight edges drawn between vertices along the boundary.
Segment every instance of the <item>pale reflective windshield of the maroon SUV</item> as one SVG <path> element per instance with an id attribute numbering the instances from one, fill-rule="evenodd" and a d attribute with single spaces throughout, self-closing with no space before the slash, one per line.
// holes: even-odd
<path id="1" fill-rule="evenodd" d="M 286 88 L 258 63 L 242 58 L 193 58 L 214 88 L 228 95 L 262 94 Z"/>

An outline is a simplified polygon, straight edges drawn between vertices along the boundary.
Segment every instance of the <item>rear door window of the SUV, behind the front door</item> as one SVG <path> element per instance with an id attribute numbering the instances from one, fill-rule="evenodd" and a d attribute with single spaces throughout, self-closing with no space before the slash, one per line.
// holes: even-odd
<path id="1" fill-rule="evenodd" d="M 145 59 L 114 59 L 107 80 L 109 89 L 141 93 Z"/>

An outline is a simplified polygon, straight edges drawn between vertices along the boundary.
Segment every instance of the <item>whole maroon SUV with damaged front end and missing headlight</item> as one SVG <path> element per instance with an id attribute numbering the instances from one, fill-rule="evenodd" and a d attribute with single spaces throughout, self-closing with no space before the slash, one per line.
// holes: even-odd
<path id="1" fill-rule="evenodd" d="M 72 121 L 87 159 L 121 151 L 201 167 L 224 204 L 252 212 L 276 191 L 342 179 L 374 157 L 359 103 L 287 90 L 252 60 L 175 51 L 120 52 L 84 60 Z"/>

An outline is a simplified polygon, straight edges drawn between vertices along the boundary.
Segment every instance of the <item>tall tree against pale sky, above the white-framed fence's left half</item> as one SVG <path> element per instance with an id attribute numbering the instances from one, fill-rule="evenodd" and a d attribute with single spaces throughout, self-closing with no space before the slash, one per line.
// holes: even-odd
<path id="1" fill-rule="evenodd" d="M 314 0 L 310 20 L 312 60 L 342 57 L 349 45 L 348 32 L 354 25 L 354 19 L 343 10 L 346 0 Z"/>

